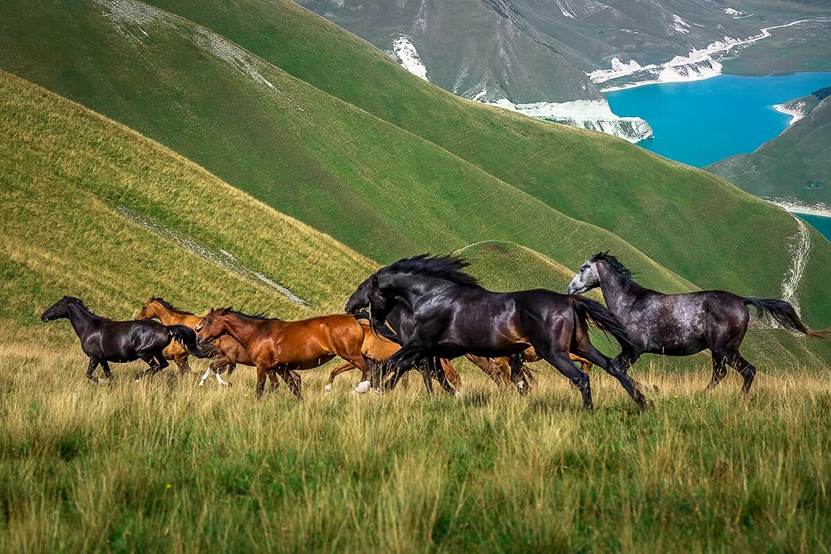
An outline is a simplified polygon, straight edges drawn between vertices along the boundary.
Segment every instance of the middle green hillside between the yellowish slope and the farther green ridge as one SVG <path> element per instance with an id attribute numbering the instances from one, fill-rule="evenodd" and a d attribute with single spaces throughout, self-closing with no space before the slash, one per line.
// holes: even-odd
<path id="1" fill-rule="evenodd" d="M 3 49 L 0 62 L 379 262 L 502 238 L 569 265 L 600 249 L 654 265 L 612 233 L 564 216 L 203 27 L 152 7 L 120 11 L 125 5 L 143 6 L 47 3 L 0 38 L 27 45 L 28 53 Z M 655 274 L 656 286 L 677 290 L 683 281 L 663 269 Z"/>

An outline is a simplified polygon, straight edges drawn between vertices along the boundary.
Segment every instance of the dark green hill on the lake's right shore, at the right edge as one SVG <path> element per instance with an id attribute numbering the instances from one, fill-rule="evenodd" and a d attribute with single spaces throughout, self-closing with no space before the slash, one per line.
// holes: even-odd
<path id="1" fill-rule="evenodd" d="M 831 99 L 754 153 L 707 169 L 763 198 L 831 207 Z"/>

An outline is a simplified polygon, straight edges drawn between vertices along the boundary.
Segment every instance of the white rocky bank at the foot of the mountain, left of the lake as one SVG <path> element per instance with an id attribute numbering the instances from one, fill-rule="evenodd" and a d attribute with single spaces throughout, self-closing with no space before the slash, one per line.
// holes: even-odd
<path id="1" fill-rule="evenodd" d="M 514 104 L 501 99 L 487 102 L 505 110 L 537 117 L 539 119 L 571 125 L 588 130 L 597 130 L 635 143 L 652 137 L 652 128 L 640 117 L 621 117 L 612 112 L 606 101 L 576 100 L 568 102 L 535 102 Z"/>

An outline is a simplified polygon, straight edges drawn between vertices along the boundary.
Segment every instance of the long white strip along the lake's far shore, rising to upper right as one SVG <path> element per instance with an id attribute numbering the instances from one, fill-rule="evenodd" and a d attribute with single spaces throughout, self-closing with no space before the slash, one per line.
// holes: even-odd
<path id="1" fill-rule="evenodd" d="M 624 79 L 627 81 L 617 86 L 607 86 L 601 89 L 602 92 L 619 91 L 634 86 L 655 85 L 657 83 L 680 82 L 680 81 L 701 81 L 721 74 L 719 60 L 731 49 L 745 47 L 754 42 L 770 37 L 771 29 L 791 27 L 799 23 L 814 21 L 812 19 L 800 19 L 799 21 L 774 25 L 760 29 L 760 34 L 745 40 L 733 37 L 724 37 L 723 41 L 715 41 L 704 48 L 693 48 L 687 56 L 675 56 L 664 63 L 654 63 L 642 66 L 637 61 L 623 63 L 619 58 L 613 57 L 611 69 L 597 69 L 587 73 L 589 79 L 595 84 L 607 81 Z"/>

